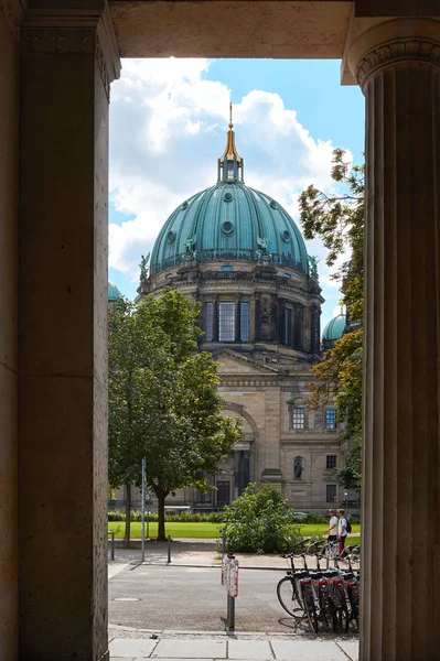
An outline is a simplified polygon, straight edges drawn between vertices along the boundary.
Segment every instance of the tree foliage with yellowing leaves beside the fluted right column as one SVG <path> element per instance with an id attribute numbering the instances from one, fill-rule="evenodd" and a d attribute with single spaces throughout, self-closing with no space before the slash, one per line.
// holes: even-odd
<path id="1" fill-rule="evenodd" d="M 347 488 L 361 487 L 362 454 L 362 348 L 364 310 L 364 165 L 347 162 L 346 152 L 333 151 L 332 178 L 337 194 L 309 186 L 300 195 L 301 224 L 305 239 L 320 237 L 328 248 L 326 263 L 342 266 L 332 278 L 342 281 L 342 303 L 347 307 L 351 333 L 334 343 L 324 359 L 312 368 L 311 407 L 324 405 L 334 397 L 337 420 L 345 423 L 343 437 L 348 452 L 345 468 L 335 472 Z"/>

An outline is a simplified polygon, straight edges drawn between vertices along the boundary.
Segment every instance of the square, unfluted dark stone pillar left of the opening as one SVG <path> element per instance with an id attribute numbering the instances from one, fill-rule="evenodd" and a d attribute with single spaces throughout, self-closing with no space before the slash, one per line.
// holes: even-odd
<path id="1" fill-rule="evenodd" d="M 19 657 L 100 661 L 108 102 L 119 58 L 104 1 L 35 4 L 21 54 Z"/>

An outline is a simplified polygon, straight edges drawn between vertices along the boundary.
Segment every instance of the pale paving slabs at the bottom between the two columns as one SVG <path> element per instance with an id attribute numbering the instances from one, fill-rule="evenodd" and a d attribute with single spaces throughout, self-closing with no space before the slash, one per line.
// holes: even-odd
<path id="1" fill-rule="evenodd" d="M 111 661 L 357 661 L 353 638 L 110 629 Z"/>

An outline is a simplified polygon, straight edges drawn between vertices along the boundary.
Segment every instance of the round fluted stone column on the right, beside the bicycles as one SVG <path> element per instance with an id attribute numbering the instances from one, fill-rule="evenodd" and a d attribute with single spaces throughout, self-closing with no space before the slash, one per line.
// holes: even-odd
<path id="1" fill-rule="evenodd" d="M 440 23 L 355 41 L 366 99 L 362 661 L 440 649 Z"/>

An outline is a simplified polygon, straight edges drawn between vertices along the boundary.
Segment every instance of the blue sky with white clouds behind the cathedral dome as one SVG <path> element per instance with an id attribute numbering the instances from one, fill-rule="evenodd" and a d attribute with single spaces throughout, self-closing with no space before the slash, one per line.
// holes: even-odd
<path id="1" fill-rule="evenodd" d="M 169 215 L 216 183 L 229 101 L 245 183 L 280 203 L 300 229 L 299 193 L 310 184 L 334 189 L 332 150 L 362 163 L 364 97 L 340 85 L 339 61 L 124 59 L 110 101 L 109 279 L 127 297 Z M 307 248 L 319 259 L 324 327 L 339 308 L 339 285 L 321 241 Z"/>

